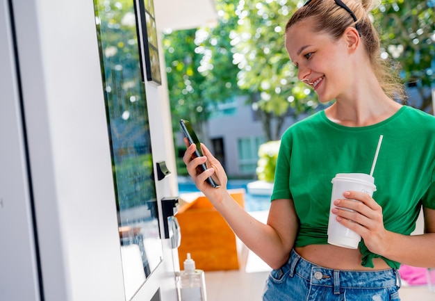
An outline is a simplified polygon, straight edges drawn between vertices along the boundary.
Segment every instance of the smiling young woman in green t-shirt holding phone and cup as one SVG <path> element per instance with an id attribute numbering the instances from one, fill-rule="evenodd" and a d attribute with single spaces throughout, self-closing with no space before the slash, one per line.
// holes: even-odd
<path id="1" fill-rule="evenodd" d="M 233 231 L 274 269 L 263 300 L 400 300 L 400 263 L 435 267 L 435 117 L 397 102 L 404 92 L 380 58 L 371 7 L 310 0 L 286 25 L 299 79 L 320 101 L 335 101 L 282 136 L 266 225 L 231 198 L 222 165 L 204 145 L 203 157 L 192 158 L 190 145 L 183 158 Z M 380 135 L 377 191 L 347 191 L 330 212 L 331 179 L 368 174 Z M 197 174 L 201 163 L 209 169 Z M 210 176 L 220 188 L 206 183 Z M 421 208 L 425 234 L 410 236 Z M 358 249 L 327 243 L 330 213 L 361 235 Z"/>

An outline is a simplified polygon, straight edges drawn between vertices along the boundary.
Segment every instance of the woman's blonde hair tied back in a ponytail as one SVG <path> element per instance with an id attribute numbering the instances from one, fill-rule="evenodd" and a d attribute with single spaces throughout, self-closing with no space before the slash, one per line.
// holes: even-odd
<path id="1" fill-rule="evenodd" d="M 338 6 L 334 0 L 311 0 L 306 6 L 299 8 L 286 24 L 288 29 L 304 19 L 310 18 L 315 32 L 328 33 L 335 40 L 343 35 L 347 27 L 358 29 L 361 41 L 366 49 L 372 70 L 379 85 L 388 97 L 404 103 L 407 99 L 404 86 L 399 76 L 398 64 L 381 58 L 379 35 L 368 16 L 368 12 L 377 6 L 378 1 L 342 0 L 352 10 L 356 22 L 347 10 Z"/>

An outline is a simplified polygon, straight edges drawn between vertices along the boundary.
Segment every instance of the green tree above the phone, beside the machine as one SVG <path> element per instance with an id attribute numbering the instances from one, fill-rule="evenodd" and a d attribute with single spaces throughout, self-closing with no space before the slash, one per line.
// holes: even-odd
<path id="1" fill-rule="evenodd" d="M 222 14 L 215 26 L 167 31 L 163 36 L 174 131 L 179 131 L 178 120 L 184 118 L 196 125 L 200 137 L 206 138 L 202 131 L 206 131 L 213 108 L 240 93 L 229 39 L 236 18 L 223 13 L 233 11 L 237 2 L 217 1 Z"/>

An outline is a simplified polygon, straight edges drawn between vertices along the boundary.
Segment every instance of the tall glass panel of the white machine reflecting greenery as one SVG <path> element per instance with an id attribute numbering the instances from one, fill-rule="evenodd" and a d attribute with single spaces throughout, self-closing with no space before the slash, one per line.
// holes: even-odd
<path id="1" fill-rule="evenodd" d="M 133 0 L 95 0 L 94 4 L 129 300 L 163 253 L 145 86 Z"/>

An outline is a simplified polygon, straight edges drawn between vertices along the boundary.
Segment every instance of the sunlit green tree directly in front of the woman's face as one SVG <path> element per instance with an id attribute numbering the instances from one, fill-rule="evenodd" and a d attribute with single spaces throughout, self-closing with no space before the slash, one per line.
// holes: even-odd
<path id="1" fill-rule="evenodd" d="M 286 22 L 301 5 L 297 0 L 252 0 L 240 1 L 236 10 L 238 26 L 231 42 L 240 68 L 238 84 L 252 93 L 267 140 L 279 139 L 286 116 L 319 104 L 313 90 L 297 79 L 284 47 Z"/>

